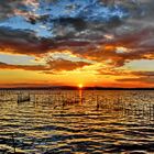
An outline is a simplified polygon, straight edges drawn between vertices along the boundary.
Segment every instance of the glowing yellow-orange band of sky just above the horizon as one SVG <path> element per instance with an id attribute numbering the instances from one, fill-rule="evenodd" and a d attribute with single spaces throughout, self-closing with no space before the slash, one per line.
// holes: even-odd
<path id="1" fill-rule="evenodd" d="M 1 87 L 35 87 L 35 86 L 102 86 L 102 87 L 152 87 L 151 77 L 146 77 L 148 72 L 138 70 L 129 66 L 112 68 L 108 61 L 96 62 L 91 59 L 80 59 L 68 51 L 64 51 L 68 59 L 56 59 L 46 64 L 45 58 L 29 59 L 22 55 L 7 54 L 7 58 L 16 56 L 19 59 L 25 58 L 28 64 L 0 64 Z M 55 57 L 64 55 L 55 53 Z M 65 57 L 64 56 L 64 57 Z M 81 62 L 77 61 L 80 59 Z M 77 61 L 77 62 L 76 62 Z M 9 62 L 9 59 L 8 59 Z M 15 62 L 14 62 L 15 63 Z M 18 63 L 18 62 L 16 62 Z M 55 63 L 55 64 L 54 64 Z M 145 63 L 144 61 L 141 63 Z M 31 64 L 31 65 L 30 65 Z"/>

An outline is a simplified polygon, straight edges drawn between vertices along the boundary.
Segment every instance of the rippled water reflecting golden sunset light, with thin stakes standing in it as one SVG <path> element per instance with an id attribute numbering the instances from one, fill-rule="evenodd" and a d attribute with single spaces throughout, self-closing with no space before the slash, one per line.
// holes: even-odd
<path id="1" fill-rule="evenodd" d="M 0 153 L 154 153 L 153 94 L 1 91 Z"/>

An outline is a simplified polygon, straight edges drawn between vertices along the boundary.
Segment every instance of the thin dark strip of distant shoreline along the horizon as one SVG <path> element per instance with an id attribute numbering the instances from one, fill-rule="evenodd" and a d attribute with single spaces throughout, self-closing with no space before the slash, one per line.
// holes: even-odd
<path id="1" fill-rule="evenodd" d="M 0 90 L 78 90 L 78 87 L 56 86 L 56 87 L 11 87 L 0 88 Z M 120 88 L 120 87 L 84 87 L 82 90 L 154 90 L 153 88 Z"/>

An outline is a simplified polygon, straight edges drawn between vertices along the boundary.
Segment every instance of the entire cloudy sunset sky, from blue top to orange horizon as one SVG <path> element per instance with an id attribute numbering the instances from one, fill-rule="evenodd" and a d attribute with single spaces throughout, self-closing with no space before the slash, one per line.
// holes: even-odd
<path id="1" fill-rule="evenodd" d="M 0 87 L 154 87 L 153 0 L 0 0 Z"/>

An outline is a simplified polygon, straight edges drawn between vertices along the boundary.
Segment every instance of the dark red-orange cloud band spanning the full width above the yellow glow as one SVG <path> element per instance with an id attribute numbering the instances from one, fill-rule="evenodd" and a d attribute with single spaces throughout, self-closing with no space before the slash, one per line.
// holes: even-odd
<path id="1" fill-rule="evenodd" d="M 13 51 L 6 51 L 18 54 L 41 56 L 47 52 L 70 50 L 73 54 L 103 62 L 111 59 L 112 66 L 123 66 L 127 62 L 133 59 L 154 59 L 154 45 L 152 30 L 144 30 L 134 34 L 124 35 L 123 37 L 114 38 L 112 41 L 73 41 L 73 40 L 57 40 L 38 38 L 33 32 L 12 32 L 0 30 L 0 48 L 11 48 Z M 12 40 L 13 37 L 13 40 Z M 100 46 L 100 47 L 99 47 Z M 109 46 L 109 47 L 108 47 Z M 117 47 L 124 46 L 128 52 L 118 53 Z"/>

